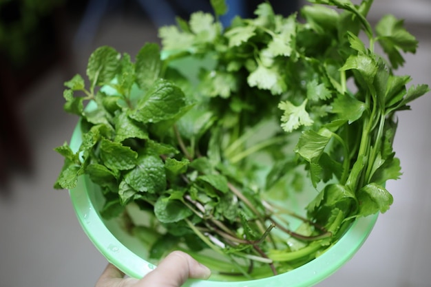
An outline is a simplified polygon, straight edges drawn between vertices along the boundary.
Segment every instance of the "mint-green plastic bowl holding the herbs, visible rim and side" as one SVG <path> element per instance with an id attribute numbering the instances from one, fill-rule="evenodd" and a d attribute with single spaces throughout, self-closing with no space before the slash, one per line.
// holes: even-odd
<path id="1" fill-rule="evenodd" d="M 81 145 L 81 126 L 74 129 L 70 147 L 75 151 Z M 147 250 L 136 237 L 129 235 L 120 220 L 103 220 L 100 213 L 104 198 L 101 191 L 86 176 L 78 179 L 70 198 L 78 221 L 94 246 L 106 259 L 130 277 L 140 278 L 156 268 L 148 262 Z M 346 264 L 370 234 L 377 215 L 361 217 L 348 228 L 341 239 L 322 255 L 303 266 L 286 273 L 249 281 L 216 281 L 189 279 L 184 286 L 192 287 L 306 287 L 313 286 Z"/>

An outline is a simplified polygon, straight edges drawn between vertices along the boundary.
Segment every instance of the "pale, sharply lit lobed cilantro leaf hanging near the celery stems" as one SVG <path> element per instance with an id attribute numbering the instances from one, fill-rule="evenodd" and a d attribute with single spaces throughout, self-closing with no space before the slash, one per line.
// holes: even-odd
<path id="1" fill-rule="evenodd" d="M 280 102 L 278 105 L 279 109 L 284 111 L 282 116 L 282 128 L 284 131 L 291 132 L 300 126 L 310 126 L 313 125 L 313 120 L 311 120 L 305 107 L 307 100 L 304 100 L 301 105 L 295 106 L 288 100 Z"/>

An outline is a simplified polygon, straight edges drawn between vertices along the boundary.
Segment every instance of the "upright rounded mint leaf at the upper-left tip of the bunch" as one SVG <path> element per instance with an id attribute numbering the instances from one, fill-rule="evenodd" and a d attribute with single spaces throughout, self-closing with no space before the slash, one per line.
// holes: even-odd
<path id="1" fill-rule="evenodd" d="M 120 65 L 120 53 L 113 47 L 98 47 L 91 55 L 87 65 L 87 76 L 91 89 L 96 85 L 107 84 L 116 76 Z"/>

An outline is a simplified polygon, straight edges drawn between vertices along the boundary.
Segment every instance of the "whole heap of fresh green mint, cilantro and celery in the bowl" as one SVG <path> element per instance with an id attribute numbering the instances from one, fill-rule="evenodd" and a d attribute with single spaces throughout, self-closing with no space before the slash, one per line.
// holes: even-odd
<path id="1" fill-rule="evenodd" d="M 83 140 L 56 148 L 65 164 L 55 187 L 88 176 L 105 195 L 103 217 L 129 206 L 149 217 L 129 229 L 151 234 L 150 257 L 186 248 L 204 260 L 209 249 L 215 271 L 247 278 L 305 264 L 356 217 L 387 211 L 384 184 L 401 174 L 395 112 L 429 90 L 394 73 L 417 41 L 392 16 L 373 29 L 371 0 L 311 2 L 289 17 L 262 3 L 223 28 L 224 1 L 211 1 L 215 17 L 160 29 L 161 53 L 147 43 L 132 62 L 98 48 L 89 83 L 65 83 Z M 291 210 L 297 191 L 317 191 L 306 215 Z"/>

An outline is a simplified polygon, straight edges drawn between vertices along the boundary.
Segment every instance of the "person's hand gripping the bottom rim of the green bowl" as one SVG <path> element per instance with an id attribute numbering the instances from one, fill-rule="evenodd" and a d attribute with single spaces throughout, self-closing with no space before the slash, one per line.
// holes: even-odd
<path id="1" fill-rule="evenodd" d="M 180 287 L 189 278 L 208 279 L 211 271 L 187 253 L 174 251 L 143 279 L 124 278 L 124 273 L 108 264 L 96 287 Z"/>

